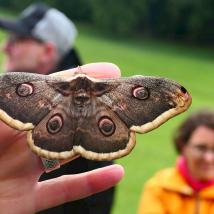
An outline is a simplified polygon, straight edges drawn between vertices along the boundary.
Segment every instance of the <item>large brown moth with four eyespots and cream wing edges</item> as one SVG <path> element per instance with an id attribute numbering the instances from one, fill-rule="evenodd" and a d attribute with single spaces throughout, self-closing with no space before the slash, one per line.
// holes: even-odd
<path id="1" fill-rule="evenodd" d="M 122 157 L 135 146 L 135 132 L 159 127 L 190 104 L 184 87 L 159 77 L 0 76 L 0 119 L 28 130 L 30 148 L 47 159 Z"/>

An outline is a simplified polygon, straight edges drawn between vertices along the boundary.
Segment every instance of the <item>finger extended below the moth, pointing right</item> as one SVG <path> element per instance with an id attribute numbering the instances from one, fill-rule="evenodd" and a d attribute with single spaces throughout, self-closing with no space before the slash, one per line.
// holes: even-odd
<path id="1" fill-rule="evenodd" d="M 76 175 L 65 175 L 38 184 L 36 211 L 51 208 L 104 191 L 124 175 L 120 165 L 111 165 Z"/>

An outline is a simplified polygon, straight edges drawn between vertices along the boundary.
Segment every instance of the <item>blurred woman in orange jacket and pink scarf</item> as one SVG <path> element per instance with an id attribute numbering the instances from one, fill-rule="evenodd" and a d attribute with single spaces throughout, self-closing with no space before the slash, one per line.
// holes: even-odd
<path id="1" fill-rule="evenodd" d="M 214 111 L 190 115 L 174 144 L 176 166 L 146 182 L 138 214 L 214 213 Z"/>

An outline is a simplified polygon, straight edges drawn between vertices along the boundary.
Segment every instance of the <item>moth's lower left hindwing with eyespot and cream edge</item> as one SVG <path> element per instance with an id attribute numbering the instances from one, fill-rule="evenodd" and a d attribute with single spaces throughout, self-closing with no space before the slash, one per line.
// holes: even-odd
<path id="1" fill-rule="evenodd" d="M 77 118 L 70 113 L 69 97 L 49 112 L 32 131 L 28 132 L 30 148 L 47 159 L 73 157 Z"/>

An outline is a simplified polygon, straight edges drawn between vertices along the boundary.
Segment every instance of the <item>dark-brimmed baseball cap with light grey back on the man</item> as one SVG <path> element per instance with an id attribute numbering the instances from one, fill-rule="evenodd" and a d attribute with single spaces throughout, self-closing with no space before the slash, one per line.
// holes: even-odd
<path id="1" fill-rule="evenodd" d="M 62 12 L 45 4 L 27 7 L 15 20 L 0 18 L 0 28 L 17 35 L 52 42 L 61 55 L 74 45 L 77 29 Z"/>

